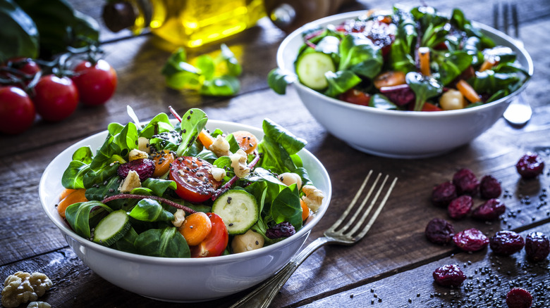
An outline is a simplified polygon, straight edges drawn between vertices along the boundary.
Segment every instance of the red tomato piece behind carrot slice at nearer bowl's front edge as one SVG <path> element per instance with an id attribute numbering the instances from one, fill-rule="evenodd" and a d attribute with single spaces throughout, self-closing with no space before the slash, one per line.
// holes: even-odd
<path id="1" fill-rule="evenodd" d="M 212 229 L 199 245 L 189 247 L 191 257 L 217 257 L 226 250 L 229 235 L 224 220 L 214 213 L 207 213 L 207 216 L 212 222 Z"/>

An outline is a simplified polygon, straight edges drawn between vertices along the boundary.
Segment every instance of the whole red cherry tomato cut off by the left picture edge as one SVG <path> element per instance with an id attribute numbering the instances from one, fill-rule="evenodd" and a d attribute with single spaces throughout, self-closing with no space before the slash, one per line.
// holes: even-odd
<path id="1" fill-rule="evenodd" d="M 17 86 L 0 88 L 0 132 L 20 134 L 35 122 L 35 105 Z"/>

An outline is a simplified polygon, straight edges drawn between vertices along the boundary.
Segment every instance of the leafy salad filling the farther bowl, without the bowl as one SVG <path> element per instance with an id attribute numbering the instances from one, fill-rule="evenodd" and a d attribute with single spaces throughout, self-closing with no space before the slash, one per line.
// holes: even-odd
<path id="1" fill-rule="evenodd" d="M 284 94 L 301 84 L 341 101 L 387 110 L 470 108 L 516 91 L 530 77 L 507 46 L 496 46 L 460 9 L 393 7 L 302 33 L 295 72 L 274 69 Z"/>

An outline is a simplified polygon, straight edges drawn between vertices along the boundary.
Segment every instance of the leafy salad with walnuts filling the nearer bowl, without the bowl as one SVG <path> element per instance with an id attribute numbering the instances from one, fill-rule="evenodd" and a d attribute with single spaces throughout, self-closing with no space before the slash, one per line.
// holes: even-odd
<path id="1" fill-rule="evenodd" d="M 188 110 L 111 123 L 103 145 L 75 150 L 56 205 L 78 235 L 155 257 L 214 257 L 292 236 L 324 197 L 298 151 L 306 141 L 271 120 L 264 137 L 207 131 Z M 133 112 L 129 108 L 130 116 Z"/>

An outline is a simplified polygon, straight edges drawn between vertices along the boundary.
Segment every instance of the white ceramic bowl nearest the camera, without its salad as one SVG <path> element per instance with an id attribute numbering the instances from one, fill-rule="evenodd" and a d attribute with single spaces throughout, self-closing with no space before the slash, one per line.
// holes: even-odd
<path id="1" fill-rule="evenodd" d="M 230 122 L 209 120 L 208 129 L 226 132 L 246 129 L 262 138 L 261 129 Z M 281 269 L 305 242 L 311 229 L 323 217 L 331 199 L 331 181 L 326 169 L 309 151 L 302 149 L 300 158 L 310 179 L 326 198 L 316 214 L 295 235 L 274 245 L 235 255 L 202 259 L 149 257 L 121 252 L 78 236 L 63 222 L 56 210 L 63 191 L 61 176 L 71 162 L 73 152 L 81 146 L 99 148 L 106 131 L 83 139 L 59 154 L 45 169 L 40 179 L 42 208 L 61 230 L 76 255 L 92 271 L 118 287 L 145 297 L 170 302 L 213 300 L 250 288 Z"/>

